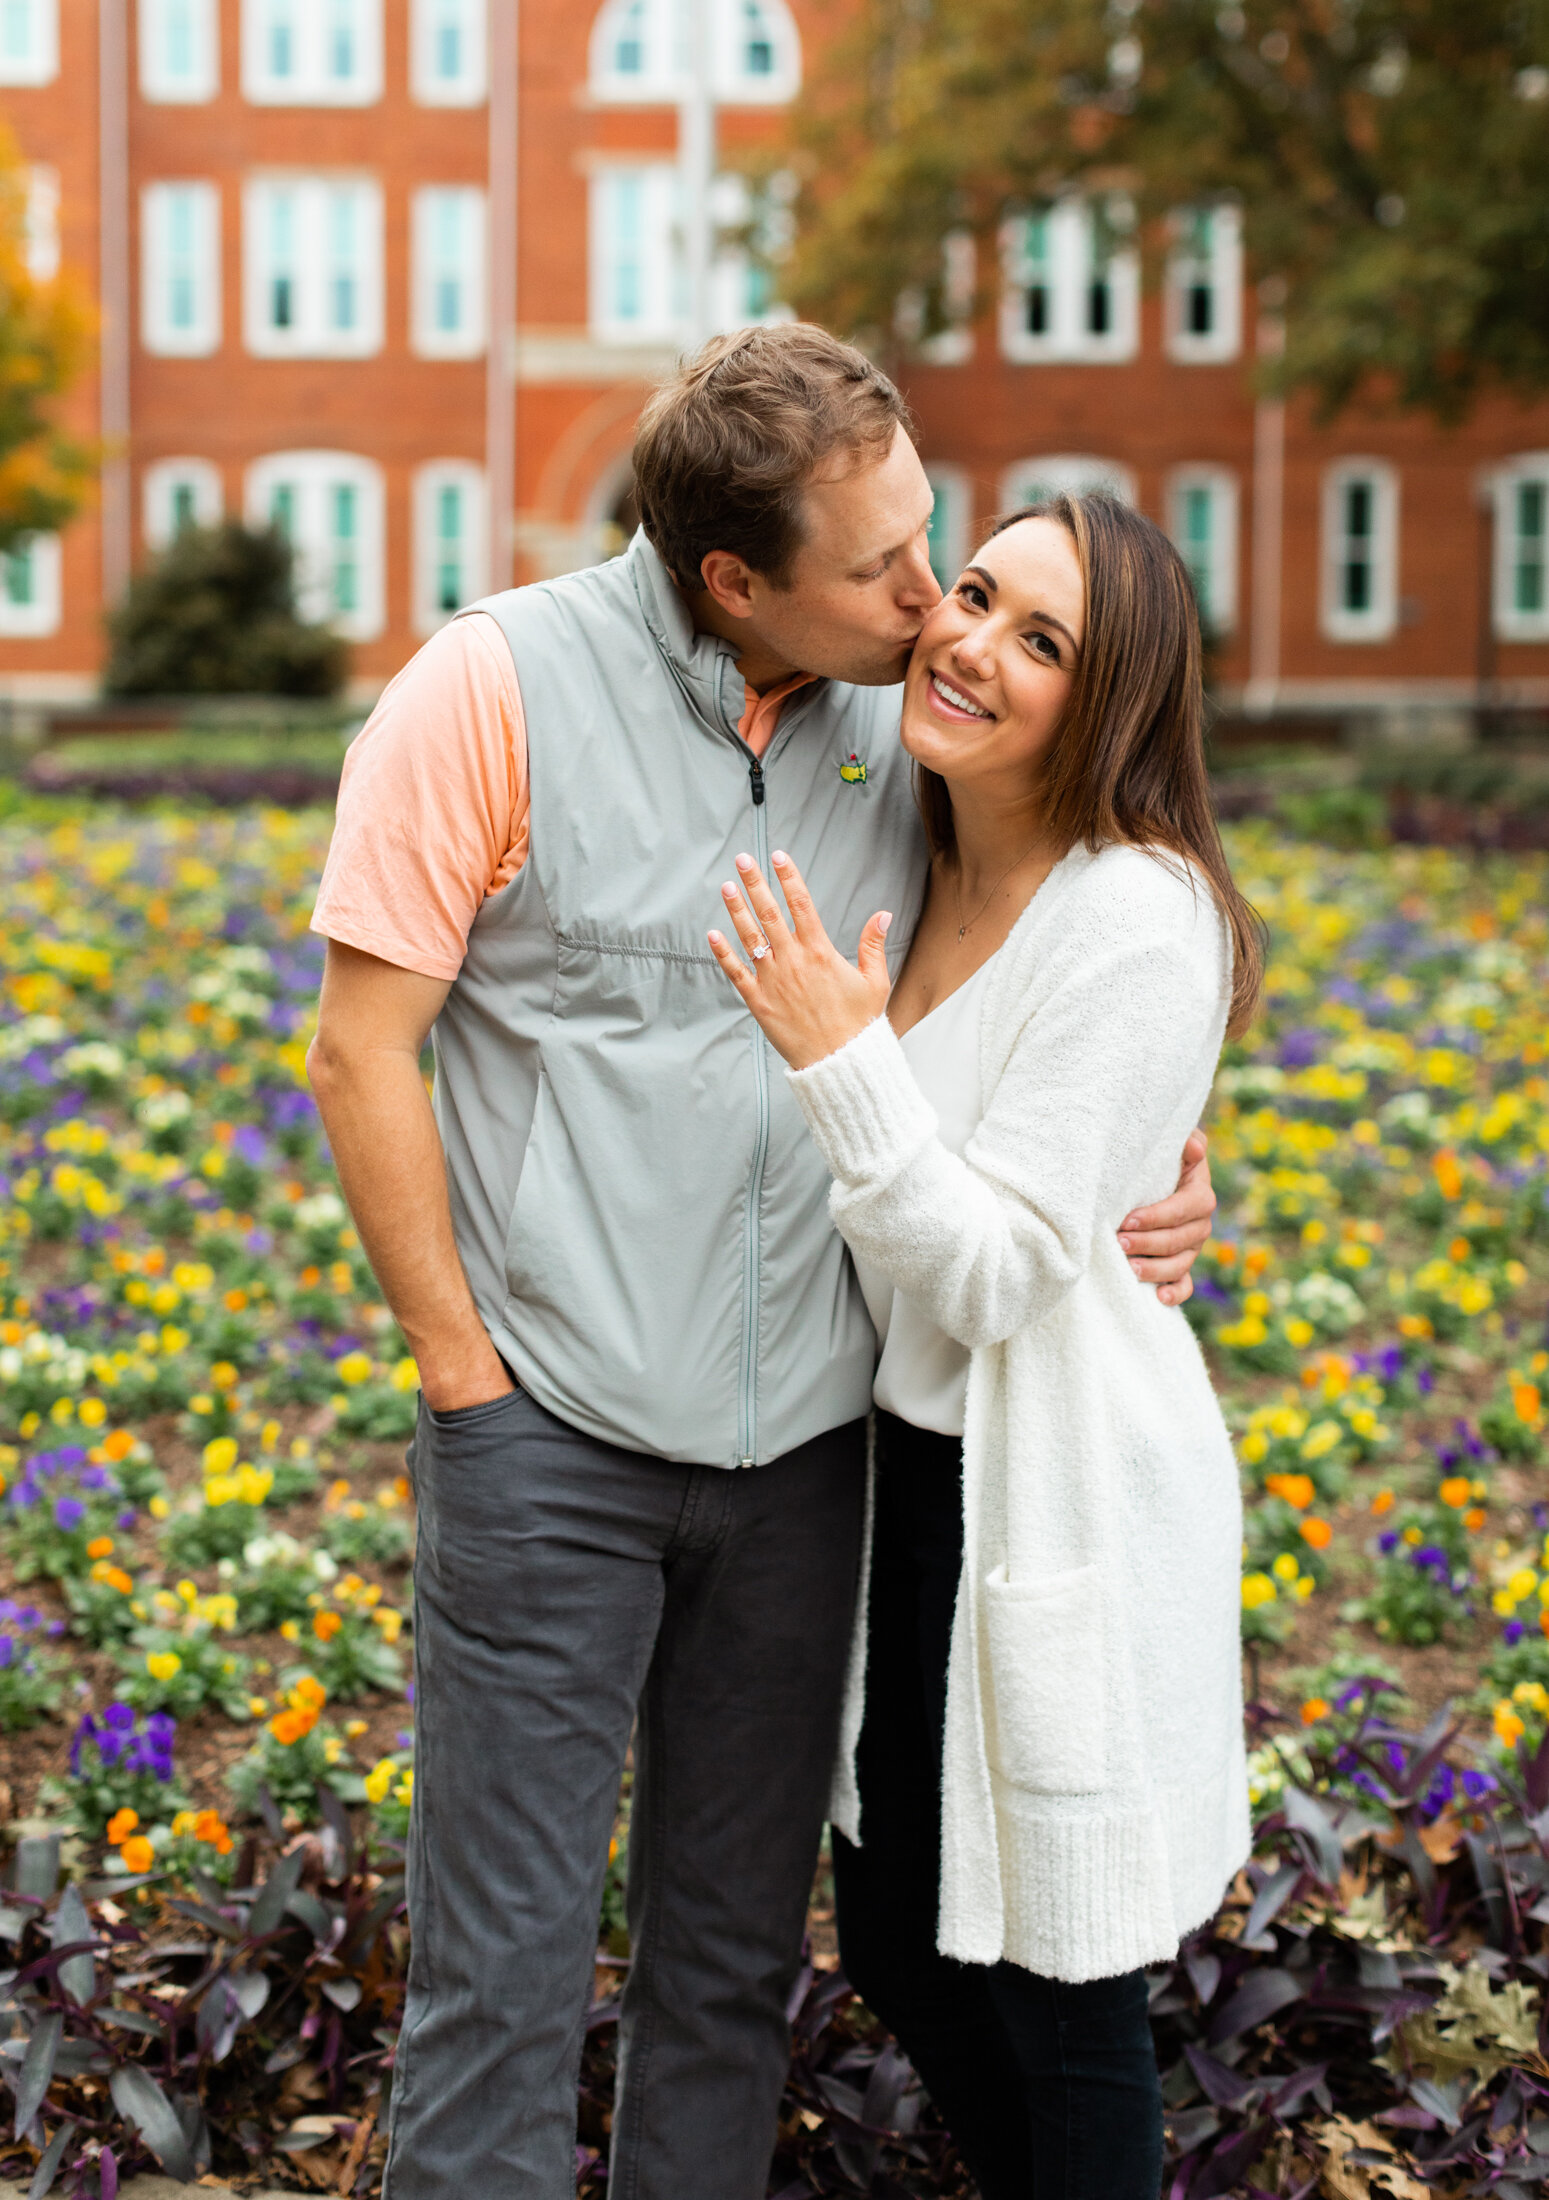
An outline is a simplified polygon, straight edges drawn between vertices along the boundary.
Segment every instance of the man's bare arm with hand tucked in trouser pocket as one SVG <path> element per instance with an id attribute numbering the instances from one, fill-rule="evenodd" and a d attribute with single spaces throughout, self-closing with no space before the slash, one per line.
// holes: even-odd
<path id="1" fill-rule="evenodd" d="M 306 1074 L 365 1258 L 438 1412 L 510 1390 L 451 1234 L 447 1162 L 420 1047 L 449 981 L 328 942 Z"/>

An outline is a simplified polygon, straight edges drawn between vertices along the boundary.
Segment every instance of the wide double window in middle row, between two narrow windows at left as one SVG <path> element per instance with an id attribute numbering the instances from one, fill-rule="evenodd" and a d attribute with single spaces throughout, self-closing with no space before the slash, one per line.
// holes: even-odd
<path id="1" fill-rule="evenodd" d="M 264 176 L 244 207 L 246 348 L 367 359 L 383 345 L 383 200 L 374 183 Z"/>

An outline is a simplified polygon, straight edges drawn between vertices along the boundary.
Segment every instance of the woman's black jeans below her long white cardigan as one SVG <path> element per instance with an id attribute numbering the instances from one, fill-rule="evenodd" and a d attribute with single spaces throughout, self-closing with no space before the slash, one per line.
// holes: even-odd
<path id="1" fill-rule="evenodd" d="M 984 2200 L 1155 2200 L 1162 2086 L 1146 1980 L 1067 1987 L 935 1947 L 962 1443 L 878 1415 L 860 1837 L 834 1835 L 838 1947 Z"/>

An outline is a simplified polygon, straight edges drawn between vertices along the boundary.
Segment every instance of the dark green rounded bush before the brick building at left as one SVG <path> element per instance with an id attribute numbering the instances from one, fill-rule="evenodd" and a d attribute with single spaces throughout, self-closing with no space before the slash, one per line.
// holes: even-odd
<path id="1" fill-rule="evenodd" d="M 110 620 L 110 695 L 334 695 L 345 645 L 295 609 L 290 546 L 235 521 L 187 528 Z"/>

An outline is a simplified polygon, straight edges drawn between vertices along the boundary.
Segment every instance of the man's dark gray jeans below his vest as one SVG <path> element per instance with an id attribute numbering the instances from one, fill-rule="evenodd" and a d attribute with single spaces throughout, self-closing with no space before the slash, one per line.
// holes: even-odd
<path id="1" fill-rule="evenodd" d="M 612 2200 L 763 2200 L 860 1549 L 865 1423 L 768 1467 L 623 1452 L 526 1393 L 409 1450 L 409 1995 L 383 2200 L 574 2200 L 636 1727 Z"/>

